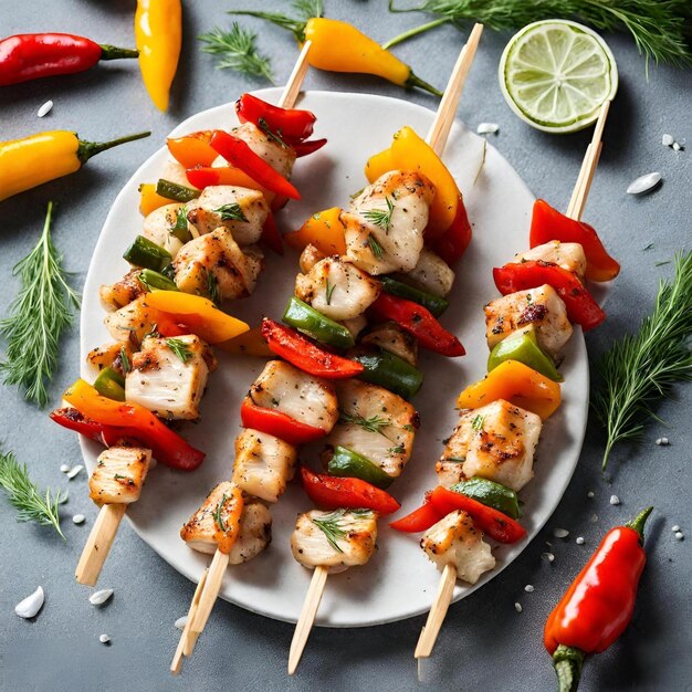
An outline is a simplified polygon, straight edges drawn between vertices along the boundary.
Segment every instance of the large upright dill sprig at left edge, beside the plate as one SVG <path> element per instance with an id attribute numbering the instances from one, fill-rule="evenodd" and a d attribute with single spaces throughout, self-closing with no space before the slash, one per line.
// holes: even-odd
<path id="1" fill-rule="evenodd" d="M 46 382 L 57 367 L 61 334 L 73 323 L 72 307 L 80 308 L 53 245 L 52 212 L 49 202 L 38 244 L 12 272 L 20 276 L 21 290 L 0 321 L 0 335 L 7 340 L 6 360 L 0 363 L 3 381 L 23 387 L 24 398 L 40 407 L 48 403 Z"/>

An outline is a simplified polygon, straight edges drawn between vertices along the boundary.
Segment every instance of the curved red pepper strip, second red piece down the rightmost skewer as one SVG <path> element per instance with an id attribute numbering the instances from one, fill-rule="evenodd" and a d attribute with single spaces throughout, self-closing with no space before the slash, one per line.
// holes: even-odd
<path id="1" fill-rule="evenodd" d="M 565 301 L 569 321 L 581 325 L 585 332 L 597 327 L 606 318 L 606 313 L 577 275 L 552 262 L 510 262 L 493 269 L 493 279 L 502 295 L 549 284 Z"/>

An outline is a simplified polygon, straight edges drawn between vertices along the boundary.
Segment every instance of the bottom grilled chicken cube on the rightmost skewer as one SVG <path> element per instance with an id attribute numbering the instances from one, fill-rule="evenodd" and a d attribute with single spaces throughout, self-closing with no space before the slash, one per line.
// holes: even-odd
<path id="1" fill-rule="evenodd" d="M 420 547 L 440 572 L 447 565 L 454 565 L 457 578 L 469 584 L 475 584 L 484 572 L 495 566 L 483 532 L 461 510 L 450 512 L 433 524 L 420 539 Z"/>

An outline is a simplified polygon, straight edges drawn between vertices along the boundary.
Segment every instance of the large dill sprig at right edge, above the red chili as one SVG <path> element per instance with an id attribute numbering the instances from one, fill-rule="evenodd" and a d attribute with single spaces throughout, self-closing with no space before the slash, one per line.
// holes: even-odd
<path id="1" fill-rule="evenodd" d="M 692 380 L 692 252 L 677 255 L 672 281 L 659 284 L 653 312 L 637 334 L 617 340 L 598 364 L 601 378 L 593 406 L 607 431 L 602 468 L 612 448 L 636 441 L 643 421 L 675 382 Z"/>

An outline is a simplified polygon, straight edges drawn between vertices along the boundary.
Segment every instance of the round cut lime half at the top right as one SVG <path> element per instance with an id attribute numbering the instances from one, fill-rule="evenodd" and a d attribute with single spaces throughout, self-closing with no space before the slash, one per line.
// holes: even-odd
<path id="1" fill-rule="evenodd" d="M 500 87 L 522 119 L 549 133 L 590 125 L 618 88 L 618 67 L 606 42 L 588 27 L 543 20 L 524 27 L 500 61 Z"/>

